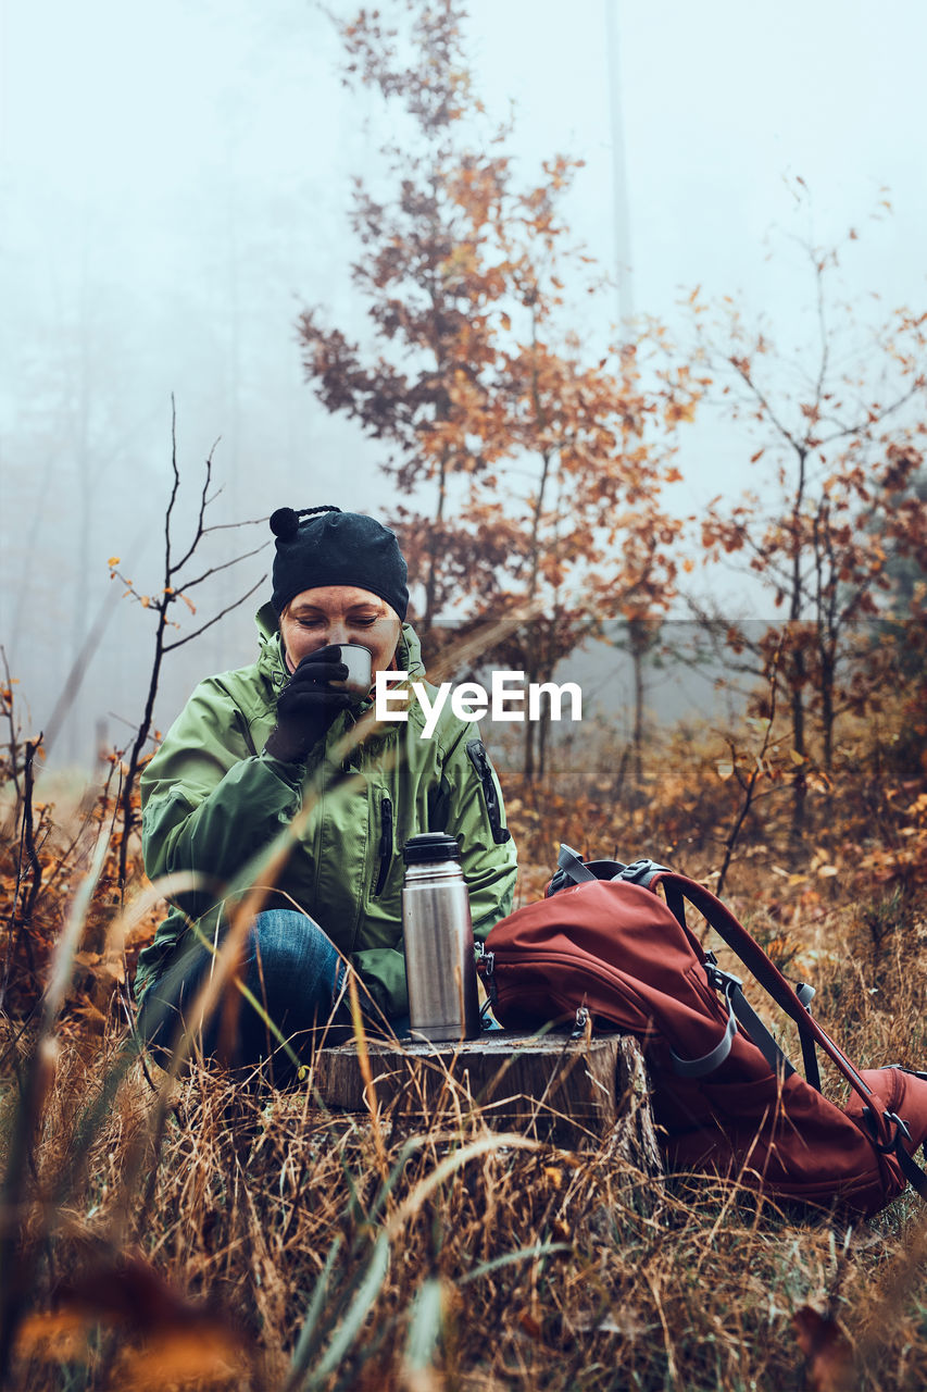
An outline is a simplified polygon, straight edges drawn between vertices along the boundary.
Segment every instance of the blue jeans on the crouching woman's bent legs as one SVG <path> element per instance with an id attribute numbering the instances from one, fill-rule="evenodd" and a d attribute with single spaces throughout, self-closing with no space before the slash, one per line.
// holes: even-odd
<path id="1" fill-rule="evenodd" d="M 168 1061 L 184 1012 L 196 999 L 213 960 L 205 944 L 185 942 L 145 992 L 139 1031 L 159 1062 Z M 333 1029 L 326 1033 L 326 1026 L 341 995 L 345 972 L 335 945 L 313 919 L 295 909 L 266 909 L 248 930 L 241 980 L 290 1047 L 280 1044 L 280 1037 L 232 984 L 203 1023 L 203 1054 L 212 1057 L 221 1044 L 225 1062 L 253 1066 L 270 1059 L 273 1080 L 292 1082 L 298 1070 L 292 1055 L 308 1054 L 323 1034 L 327 1043 L 344 1038 L 344 1027 L 338 1027 L 335 1036 Z M 345 1019 L 342 1012 L 342 1023 Z"/>

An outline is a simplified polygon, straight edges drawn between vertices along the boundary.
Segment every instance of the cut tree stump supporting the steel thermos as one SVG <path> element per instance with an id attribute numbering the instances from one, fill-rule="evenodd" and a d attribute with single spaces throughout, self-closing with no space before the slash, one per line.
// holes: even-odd
<path id="1" fill-rule="evenodd" d="M 647 1075 L 636 1040 L 490 1030 L 450 1044 L 367 1041 L 376 1102 L 395 1119 L 464 1118 L 571 1148 L 605 1147 L 617 1162 L 663 1176 Z M 354 1043 L 323 1048 L 313 1086 L 330 1108 L 367 1109 Z"/>

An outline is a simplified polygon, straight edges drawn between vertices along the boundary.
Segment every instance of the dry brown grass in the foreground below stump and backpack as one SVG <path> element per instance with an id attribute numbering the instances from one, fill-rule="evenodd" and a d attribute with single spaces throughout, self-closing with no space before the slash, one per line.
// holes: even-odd
<path id="1" fill-rule="evenodd" d="M 842 1015 L 863 987 L 852 965 L 837 981 Z M 898 986 L 910 1020 L 924 979 Z M 878 1013 L 863 1029 L 881 1057 L 899 1033 Z M 113 1031 L 63 1050 L 47 1090 L 11 1385 L 927 1384 L 912 1197 L 853 1228 L 704 1176 L 676 1176 L 654 1205 L 649 1178 L 604 1144 L 519 1148 L 468 1097 L 409 1129 L 203 1066 L 173 1086 L 159 1143 L 157 1097 L 131 1065 L 75 1168 L 81 1114 L 118 1050 Z M 838 1381 L 821 1354 L 809 1374 L 793 1325 L 806 1306 L 846 1331 Z M 841 1382 L 848 1349 L 871 1371 Z"/>

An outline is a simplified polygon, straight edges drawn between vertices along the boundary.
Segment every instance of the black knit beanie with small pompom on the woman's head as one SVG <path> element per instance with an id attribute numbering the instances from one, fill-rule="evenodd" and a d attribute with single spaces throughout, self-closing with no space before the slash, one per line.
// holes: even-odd
<path id="1" fill-rule="evenodd" d="M 381 522 L 331 507 L 301 512 L 277 508 L 270 530 L 277 537 L 270 596 L 277 614 L 294 596 L 317 585 L 356 585 L 379 594 L 405 618 L 406 565 L 395 533 Z"/>

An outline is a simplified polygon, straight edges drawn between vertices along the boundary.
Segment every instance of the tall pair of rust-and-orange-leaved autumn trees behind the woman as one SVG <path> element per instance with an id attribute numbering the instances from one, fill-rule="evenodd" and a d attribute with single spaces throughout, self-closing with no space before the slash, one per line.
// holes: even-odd
<path id="1" fill-rule="evenodd" d="M 522 185 L 507 131 L 473 95 L 461 6 L 402 13 L 408 33 L 367 13 L 341 26 L 347 81 L 398 109 L 408 135 L 384 146 L 386 193 L 355 184 L 352 277 L 373 341 L 309 309 L 305 370 L 327 409 L 388 447 L 423 633 L 448 611 L 472 628 L 528 604 L 534 618 L 489 656 L 544 681 L 597 622 L 667 603 L 678 523 L 660 504 L 675 477 L 664 436 L 697 383 L 650 362 L 657 335 L 593 352 L 564 327 L 568 280 L 601 288 L 561 212 L 579 163 L 554 157 Z"/>

